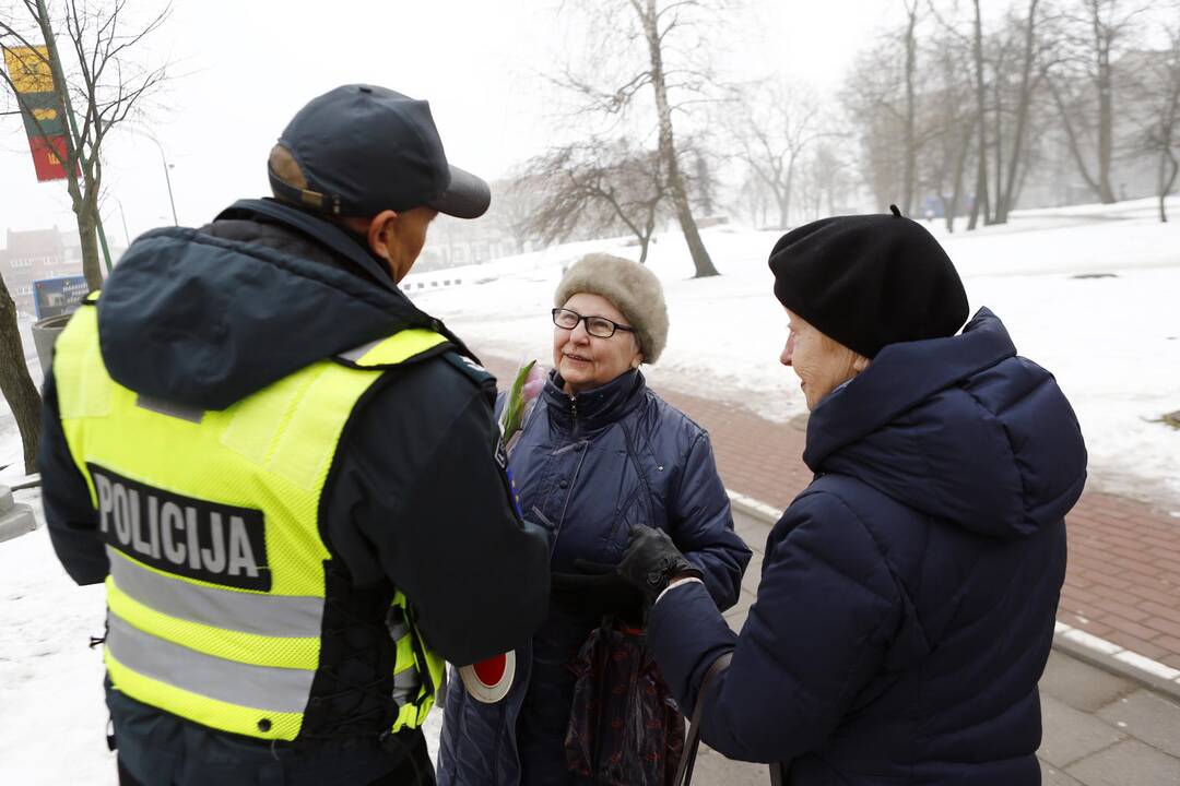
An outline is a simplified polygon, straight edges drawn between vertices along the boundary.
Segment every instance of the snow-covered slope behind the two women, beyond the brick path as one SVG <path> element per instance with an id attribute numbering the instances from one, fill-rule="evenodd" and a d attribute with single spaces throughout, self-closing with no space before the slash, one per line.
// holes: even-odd
<path id="1" fill-rule="evenodd" d="M 1171 209 L 1180 213 L 1180 199 Z M 1017 350 L 1057 376 L 1086 434 L 1090 488 L 1180 509 L 1180 431 L 1159 422 L 1180 410 L 1180 224 L 1160 224 L 1154 200 L 1141 200 L 1027 211 L 952 236 L 927 226 L 955 260 L 972 312 L 990 308 Z M 654 382 L 774 420 L 806 411 L 798 381 L 778 363 L 786 318 L 766 257 L 779 236 L 706 230 L 722 272 L 710 279 L 689 278 L 677 233 L 658 236 L 648 264 L 664 283 L 671 330 L 648 370 Z M 553 289 L 563 266 L 589 250 L 637 251 L 583 243 L 499 260 L 494 273 L 483 265 L 412 276 L 472 283 L 411 297 L 477 350 L 549 363 Z"/>

